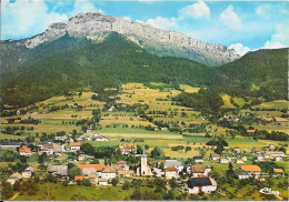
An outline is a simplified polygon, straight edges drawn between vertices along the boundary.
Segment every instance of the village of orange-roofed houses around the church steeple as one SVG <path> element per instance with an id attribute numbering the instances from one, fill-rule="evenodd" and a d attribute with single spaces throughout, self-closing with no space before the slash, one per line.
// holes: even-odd
<path id="1" fill-rule="evenodd" d="M 279 179 L 288 175 L 280 166 L 262 170 L 258 165 L 258 162 L 288 161 L 288 155 L 282 151 L 277 151 L 275 144 L 256 148 L 249 152 L 238 148 L 222 151 L 220 154 L 211 152 L 209 158 L 205 158 L 205 154 L 200 152 L 200 155 L 191 156 L 191 161 L 183 161 L 183 159 L 161 156 L 159 148 L 148 153 L 146 147 L 149 148 L 149 145 L 141 148 L 134 142 L 120 142 L 113 153 L 123 156 L 120 158 L 122 160 L 112 162 L 107 158 L 100 163 L 99 160 L 96 161 L 94 155 L 89 154 L 87 148 L 91 144 L 88 142 L 109 142 L 110 140 L 99 133 L 92 134 L 90 129 L 87 133 L 90 134 L 89 138 L 74 138 L 78 141 L 72 139 L 72 134 L 66 134 L 40 143 L 1 143 L 2 150 L 11 149 L 16 155 L 26 159 L 23 162 L 27 162 L 31 155 L 37 155 L 39 165 L 42 165 L 42 168 L 23 166 L 21 172 L 14 172 L 4 179 L 6 182 L 14 185 L 34 176 L 40 176 L 40 180 L 53 176 L 56 181 L 66 182 L 69 185 L 123 186 L 133 179 L 163 179 L 169 190 L 178 186 L 179 193 L 208 195 L 219 192 L 219 184 L 215 179 L 215 172 L 218 171 L 212 166 L 216 163 L 227 164 L 226 172 L 239 181 L 256 179 L 261 182 L 267 181 L 268 178 Z M 66 153 L 70 155 L 61 159 Z M 128 158 L 136 158 L 134 162 L 124 161 Z M 250 164 L 247 163 L 249 158 L 253 158 Z M 59 159 L 62 163 L 57 163 Z M 44 165 L 47 160 L 53 163 Z M 232 163 L 237 164 L 236 169 L 232 168 Z M 40 175 L 39 171 L 43 168 L 46 174 Z"/>

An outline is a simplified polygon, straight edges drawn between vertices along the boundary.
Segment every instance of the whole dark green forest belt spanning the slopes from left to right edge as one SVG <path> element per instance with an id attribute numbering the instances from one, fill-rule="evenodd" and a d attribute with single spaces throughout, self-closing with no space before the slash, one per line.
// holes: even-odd
<path id="1" fill-rule="evenodd" d="M 24 107 L 70 90 L 98 92 L 126 82 L 182 83 L 232 97 L 287 99 L 287 53 L 288 49 L 260 50 L 222 67 L 208 67 L 151 54 L 116 32 L 101 42 L 64 36 L 39 46 L 22 67 L 4 74 L 2 103 Z"/>

